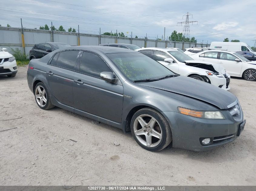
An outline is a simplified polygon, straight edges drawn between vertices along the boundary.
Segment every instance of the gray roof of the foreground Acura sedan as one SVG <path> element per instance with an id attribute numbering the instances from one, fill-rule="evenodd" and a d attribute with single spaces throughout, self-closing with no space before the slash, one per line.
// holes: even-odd
<path id="1" fill-rule="evenodd" d="M 109 54 L 109 53 L 138 53 L 135 50 L 131 49 L 124 49 L 124 48 L 118 48 L 118 47 L 113 47 L 113 46 L 69 46 L 69 47 L 64 47 L 61 49 L 58 49 L 60 51 L 62 50 L 70 50 L 70 49 L 78 49 L 78 50 L 88 50 L 88 51 L 94 51 L 94 52 L 101 52 L 104 54 Z"/>

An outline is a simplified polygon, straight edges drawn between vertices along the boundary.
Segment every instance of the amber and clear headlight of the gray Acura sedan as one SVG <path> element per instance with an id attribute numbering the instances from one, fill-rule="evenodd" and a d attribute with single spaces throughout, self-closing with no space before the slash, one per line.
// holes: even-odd
<path id="1" fill-rule="evenodd" d="M 204 118 L 204 119 L 225 119 L 223 114 L 220 111 L 197 111 L 197 110 L 190 110 L 183 107 L 178 107 L 178 111 L 181 114 Z"/>

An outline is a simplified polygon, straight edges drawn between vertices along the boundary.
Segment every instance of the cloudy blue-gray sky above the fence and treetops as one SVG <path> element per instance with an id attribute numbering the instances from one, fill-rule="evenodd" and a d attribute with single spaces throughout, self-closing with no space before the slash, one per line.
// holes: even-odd
<path id="1" fill-rule="evenodd" d="M 125 36 L 165 38 L 173 30 L 183 32 L 187 12 L 191 14 L 190 37 L 198 43 L 240 40 L 254 46 L 256 40 L 255 0 L 6 0 L 1 2 L 0 24 L 37 28 L 51 22 L 67 31 L 99 34 L 124 32 Z"/>

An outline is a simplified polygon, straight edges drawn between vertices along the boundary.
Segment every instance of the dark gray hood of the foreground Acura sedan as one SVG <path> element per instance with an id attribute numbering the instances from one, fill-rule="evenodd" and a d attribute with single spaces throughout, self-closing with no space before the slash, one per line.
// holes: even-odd
<path id="1" fill-rule="evenodd" d="M 143 82 L 140 85 L 184 95 L 214 105 L 220 109 L 228 109 L 237 97 L 228 91 L 185 76 L 177 76 L 158 81 Z"/>

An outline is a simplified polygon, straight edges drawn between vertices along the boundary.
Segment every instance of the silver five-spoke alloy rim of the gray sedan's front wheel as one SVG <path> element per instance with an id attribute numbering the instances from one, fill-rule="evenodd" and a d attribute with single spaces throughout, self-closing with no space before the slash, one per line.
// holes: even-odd
<path id="1" fill-rule="evenodd" d="M 146 147 L 156 147 L 161 143 L 163 132 L 158 121 L 148 114 L 138 116 L 133 124 L 138 141 Z"/>

